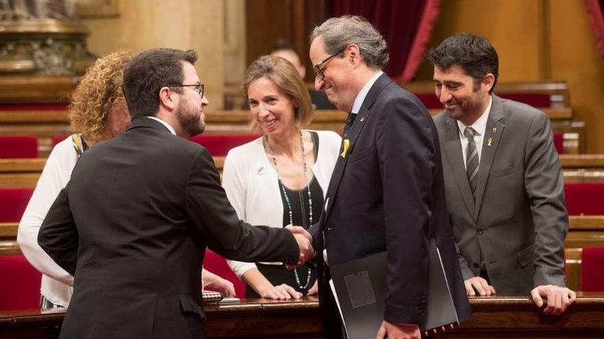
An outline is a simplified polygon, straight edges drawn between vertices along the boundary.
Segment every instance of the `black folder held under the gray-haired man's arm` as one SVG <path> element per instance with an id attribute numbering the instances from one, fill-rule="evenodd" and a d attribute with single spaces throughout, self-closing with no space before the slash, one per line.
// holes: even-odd
<path id="1" fill-rule="evenodd" d="M 421 331 L 457 324 L 457 312 L 439 248 L 428 246 L 428 295 Z M 375 338 L 384 319 L 386 252 L 329 268 L 349 339 Z"/>

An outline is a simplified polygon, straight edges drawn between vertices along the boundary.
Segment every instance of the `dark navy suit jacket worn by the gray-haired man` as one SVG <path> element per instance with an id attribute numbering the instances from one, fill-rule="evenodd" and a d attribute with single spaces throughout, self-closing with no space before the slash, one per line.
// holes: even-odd
<path id="1" fill-rule="evenodd" d="M 386 321 L 423 321 L 429 238 L 441 250 L 459 318 L 469 318 L 434 122 L 417 97 L 386 75 L 362 103 L 325 199 L 312 235 L 317 253 L 327 247 L 329 266 L 388 251 Z"/>

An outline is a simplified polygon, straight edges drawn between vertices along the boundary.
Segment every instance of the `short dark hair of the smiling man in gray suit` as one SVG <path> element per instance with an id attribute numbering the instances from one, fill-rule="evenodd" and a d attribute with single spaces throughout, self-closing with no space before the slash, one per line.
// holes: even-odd
<path id="1" fill-rule="evenodd" d="M 428 52 L 432 65 L 443 70 L 458 65 L 470 77 L 474 84 L 480 83 L 489 73 L 495 77 L 493 92 L 499 77 L 499 57 L 489 40 L 472 33 L 455 34 L 446 38 L 441 45 Z"/>

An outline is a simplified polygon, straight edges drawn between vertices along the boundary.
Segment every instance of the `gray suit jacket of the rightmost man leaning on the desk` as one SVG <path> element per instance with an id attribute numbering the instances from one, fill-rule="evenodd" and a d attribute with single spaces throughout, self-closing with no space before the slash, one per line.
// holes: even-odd
<path id="1" fill-rule="evenodd" d="M 548 116 L 493 95 L 480 155 L 476 202 L 469 188 L 458 126 L 434 117 L 447 207 L 464 279 L 479 275 L 480 253 L 498 294 L 566 286 L 564 181 Z"/>

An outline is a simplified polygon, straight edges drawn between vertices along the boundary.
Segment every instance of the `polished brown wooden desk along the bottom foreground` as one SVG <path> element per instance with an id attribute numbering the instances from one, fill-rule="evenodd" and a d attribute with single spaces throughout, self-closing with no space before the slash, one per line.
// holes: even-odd
<path id="1" fill-rule="evenodd" d="M 581 294 L 581 293 L 579 293 Z M 432 338 L 603 338 L 604 293 L 583 294 L 562 316 L 544 316 L 528 297 L 471 298 L 473 318 Z M 318 301 L 205 306 L 207 338 L 321 338 Z M 0 312 L 0 338 L 58 338 L 63 311 Z"/>

